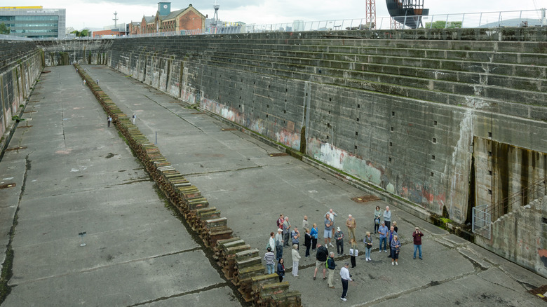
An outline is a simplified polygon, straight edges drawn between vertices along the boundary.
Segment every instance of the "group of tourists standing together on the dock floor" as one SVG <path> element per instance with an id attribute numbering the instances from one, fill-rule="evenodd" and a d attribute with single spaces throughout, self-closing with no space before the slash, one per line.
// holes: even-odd
<path id="1" fill-rule="evenodd" d="M 308 217 L 304 216 L 302 220 L 302 231 L 304 232 L 304 247 L 306 252 L 304 257 L 310 257 L 310 250 L 316 251 L 316 267 L 313 272 L 313 280 L 316 280 L 318 271 L 323 269 L 323 280 L 327 280 L 327 284 L 330 288 L 334 288 L 333 278 L 335 275 L 335 252 L 329 252 L 328 247 L 335 247 L 337 256 L 344 256 L 344 233 L 339 226 L 335 226 L 335 217 L 338 214 L 330 209 L 324 214 L 323 220 L 323 240 L 324 244 L 318 243 L 318 227 L 317 224 L 311 224 L 308 221 Z M 289 221 L 289 217 L 284 214 L 280 214 L 277 219 L 277 233 L 270 233 L 268 244 L 266 245 L 266 254 L 264 254 L 264 261 L 266 261 L 266 268 L 269 274 L 277 273 L 279 276 L 279 282 L 283 281 L 285 277 L 285 261 L 283 260 L 283 248 L 289 247 L 292 258 L 292 275 L 298 277 L 298 264 L 301 259 L 299 254 L 300 250 L 300 238 L 302 233 L 297 225 L 292 225 Z M 347 235 L 349 237 L 349 256 L 351 262 L 351 268 L 356 267 L 356 257 L 358 257 L 358 245 L 356 238 L 356 220 L 348 215 L 346 219 Z M 372 261 L 370 252 L 373 245 L 373 233 L 378 234 L 379 238 L 379 252 L 382 250 L 387 253 L 389 246 L 389 255 L 391 258 L 391 265 L 398 265 L 399 253 L 400 253 L 400 238 L 398 236 L 398 226 L 396 221 L 391 221 L 391 210 L 389 206 L 386 206 L 386 210 L 382 212 L 379 206 L 374 210 L 374 231 L 372 233 L 367 231 L 363 243 L 365 243 L 365 261 Z M 418 227 L 415 227 L 415 231 L 412 233 L 414 243 L 414 259 L 416 259 L 416 253 L 419 252 L 419 259 L 422 259 L 421 254 L 421 237 L 424 236 Z M 332 244 L 334 239 L 335 245 Z M 274 270 L 275 261 L 278 262 L 276 269 Z M 342 278 L 342 296 L 340 299 L 346 301 L 347 287 L 351 280 L 351 274 L 349 273 L 349 263 L 345 263 L 340 269 L 340 277 Z M 327 277 L 328 270 L 328 277 Z"/>

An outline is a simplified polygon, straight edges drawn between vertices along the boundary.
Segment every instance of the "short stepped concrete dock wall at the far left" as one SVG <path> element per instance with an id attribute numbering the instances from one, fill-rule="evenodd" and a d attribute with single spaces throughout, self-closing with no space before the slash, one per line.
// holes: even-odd
<path id="1" fill-rule="evenodd" d="M 0 41 L 0 135 L 15 123 L 12 116 L 19 115 L 42 67 L 34 42 Z"/>

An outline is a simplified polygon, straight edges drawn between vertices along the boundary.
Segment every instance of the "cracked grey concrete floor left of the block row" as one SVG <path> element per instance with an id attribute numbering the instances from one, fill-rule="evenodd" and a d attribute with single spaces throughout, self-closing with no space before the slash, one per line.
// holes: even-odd
<path id="1" fill-rule="evenodd" d="M 50 69 L 59 74 L 42 76 L 43 96 L 31 98 L 40 103 L 27 105 L 37 111 L 32 128 L 11 141 L 27 148 L 0 163 L 2 180 L 17 184 L 0 190 L 1 228 L 15 229 L 2 306 L 173 306 L 199 297 L 241 306 L 74 69 Z"/>

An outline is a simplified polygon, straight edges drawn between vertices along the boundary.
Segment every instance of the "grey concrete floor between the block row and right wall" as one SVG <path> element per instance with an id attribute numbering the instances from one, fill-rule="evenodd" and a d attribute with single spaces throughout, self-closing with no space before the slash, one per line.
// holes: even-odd
<path id="1" fill-rule="evenodd" d="M 90 73 L 99 78 L 104 78 L 102 72 L 90 69 Z M 155 103 L 146 104 L 147 98 L 143 96 L 154 90 L 142 88 L 140 83 L 135 87 L 135 81 L 127 79 L 108 79 L 108 82 L 107 88 L 103 88 L 108 95 L 127 114 L 137 112 L 137 125 L 149 138 L 156 131 L 161 135 L 158 147 L 163 155 L 177 170 L 187 174 L 211 206 L 221 210 L 235 235 L 259 248 L 261 255 L 270 231 L 275 231 L 279 213 L 288 215 L 297 226 L 301 226 L 302 217 L 307 215 L 310 223 L 318 224 L 321 241 L 323 214 L 332 207 L 339 214 L 336 222 L 342 231 L 346 231 L 347 214 L 356 217 L 358 238 L 362 239 L 365 231 L 372 230 L 374 207 L 387 205 L 382 201 L 353 203 L 351 198 L 365 193 L 290 156 L 269 157 L 268 153 L 278 149 L 239 131 L 222 132 L 221 129 L 227 127 L 225 123 L 202 114 L 191 114 L 191 109 L 169 103 L 173 97 L 154 96 Z M 122 89 L 126 86 L 127 89 Z M 360 243 L 357 268 L 351 270 L 356 282 L 350 284 L 346 303 L 354 306 L 543 305 L 543 301 L 526 291 L 546 284 L 544 278 L 391 208 L 392 221 L 398 221 L 403 241 L 399 265 L 392 266 L 386 253 L 379 254 L 377 236 L 373 237 L 372 261 L 365 261 L 364 246 Z M 411 234 L 416 225 L 426 234 L 423 261 L 412 259 Z M 346 243 L 346 254 L 348 248 Z M 288 252 L 285 249 L 285 256 Z M 312 252 L 311 257 L 304 258 L 302 246 L 300 254 L 299 277 L 288 273 L 285 280 L 290 282 L 290 289 L 302 293 L 304 306 L 340 302 L 339 271 L 335 273 L 337 289 L 329 289 L 321 278 L 312 279 L 315 254 Z M 292 261 L 290 257 L 285 259 L 290 269 Z M 339 266 L 344 261 L 349 261 L 349 257 L 337 258 Z"/>

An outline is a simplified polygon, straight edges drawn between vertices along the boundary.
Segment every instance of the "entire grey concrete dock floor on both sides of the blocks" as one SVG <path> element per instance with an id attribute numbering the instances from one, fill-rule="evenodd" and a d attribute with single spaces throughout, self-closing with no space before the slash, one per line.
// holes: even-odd
<path id="1" fill-rule="evenodd" d="M 329 208 L 346 237 L 352 214 L 362 240 L 372 231 L 374 207 L 386 207 L 381 200 L 354 202 L 365 192 L 290 156 L 269 156 L 280 151 L 241 131 L 222 130 L 231 127 L 147 84 L 108 67 L 85 68 L 121 110 L 137 115 L 144 135 L 157 140 L 163 156 L 261 256 L 280 213 L 299 228 L 307 215 L 318 224 L 320 241 Z M 116 128 L 107 128 L 106 114 L 74 68 L 47 70 L 8 146 L 22 148 L 6 151 L 0 161 L 0 183 L 15 183 L 0 189 L 1 243 L 14 253 L 3 305 L 241 306 L 231 282 L 158 197 Z M 302 245 L 299 276 L 293 277 L 285 249 L 285 280 L 302 293 L 304 306 L 545 306 L 527 293 L 547 285 L 545 278 L 391 209 L 403 239 L 398 266 L 378 252 L 377 236 L 372 261 L 365 261 L 360 243 L 346 302 L 338 268 L 349 262 L 347 242 L 346 256 L 337 257 L 335 289 L 321 273 L 313 280 L 315 253 L 305 258 Z M 414 226 L 425 233 L 424 260 L 412 259 Z"/>

